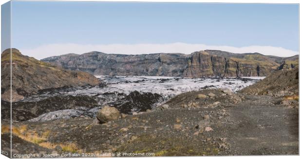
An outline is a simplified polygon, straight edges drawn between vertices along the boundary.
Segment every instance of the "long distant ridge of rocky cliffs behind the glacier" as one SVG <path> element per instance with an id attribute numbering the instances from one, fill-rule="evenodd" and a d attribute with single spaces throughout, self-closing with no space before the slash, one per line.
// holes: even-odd
<path id="1" fill-rule="evenodd" d="M 287 68 L 298 65 L 298 56 L 288 59 L 290 60 L 259 53 L 233 54 L 219 50 L 205 50 L 190 55 L 180 53 L 119 55 L 89 52 L 82 55 L 54 56 L 42 59 L 42 61 L 94 75 L 197 78 L 267 76 L 272 71 L 281 68 L 284 62 Z"/>

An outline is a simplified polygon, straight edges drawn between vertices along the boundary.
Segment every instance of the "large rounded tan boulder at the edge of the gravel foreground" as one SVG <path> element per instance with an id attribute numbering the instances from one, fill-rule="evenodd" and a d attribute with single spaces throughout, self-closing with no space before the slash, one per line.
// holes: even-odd
<path id="1" fill-rule="evenodd" d="M 119 111 L 111 106 L 105 105 L 102 109 L 97 112 L 96 118 L 100 123 L 106 123 L 108 121 L 116 120 L 121 117 Z"/>

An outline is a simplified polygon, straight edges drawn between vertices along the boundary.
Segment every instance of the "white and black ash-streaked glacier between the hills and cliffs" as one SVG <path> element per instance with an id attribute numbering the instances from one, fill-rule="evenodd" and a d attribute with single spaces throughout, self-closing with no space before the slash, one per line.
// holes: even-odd
<path id="1" fill-rule="evenodd" d="M 12 120 L 47 121 L 70 119 L 81 115 L 96 117 L 104 105 L 124 114 L 154 109 L 169 99 L 206 88 L 229 88 L 232 91 L 259 79 L 247 78 L 175 78 L 97 76 L 101 84 L 39 90 L 37 94 L 12 102 Z M 10 119 L 10 103 L 1 100 L 1 117 Z"/>

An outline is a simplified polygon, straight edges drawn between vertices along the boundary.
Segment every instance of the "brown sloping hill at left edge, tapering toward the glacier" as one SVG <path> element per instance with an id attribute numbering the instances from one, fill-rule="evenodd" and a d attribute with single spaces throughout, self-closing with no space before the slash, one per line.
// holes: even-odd
<path id="1" fill-rule="evenodd" d="M 1 99 L 10 96 L 10 49 L 1 54 Z M 52 64 L 22 55 L 12 49 L 12 94 L 13 100 L 36 94 L 38 90 L 64 86 L 95 85 L 99 81 L 93 75 L 70 71 Z"/>

